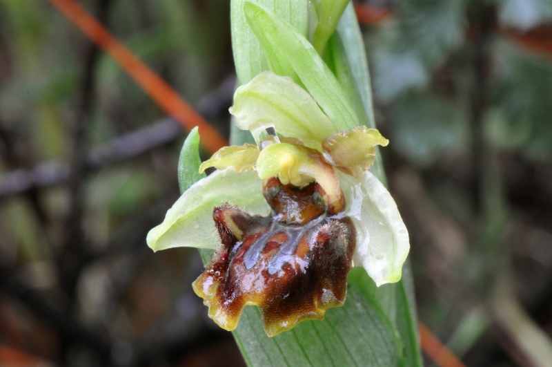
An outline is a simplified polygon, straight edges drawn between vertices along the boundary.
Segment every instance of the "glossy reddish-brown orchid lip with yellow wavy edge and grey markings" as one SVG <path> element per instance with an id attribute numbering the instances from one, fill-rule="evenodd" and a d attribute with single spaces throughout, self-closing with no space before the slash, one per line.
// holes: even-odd
<path id="1" fill-rule="evenodd" d="M 266 218 L 215 207 L 222 245 L 193 287 L 226 330 L 236 328 L 246 305 L 258 305 L 272 337 L 344 303 L 355 229 L 328 213 L 316 182 L 295 187 L 270 178 L 264 195 L 273 208 Z"/>

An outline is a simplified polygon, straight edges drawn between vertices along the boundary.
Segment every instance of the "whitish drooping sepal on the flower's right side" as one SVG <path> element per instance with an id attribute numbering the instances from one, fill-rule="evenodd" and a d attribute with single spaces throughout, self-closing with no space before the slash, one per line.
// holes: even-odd
<path id="1" fill-rule="evenodd" d="M 343 214 L 357 231 L 355 266 L 364 267 L 378 287 L 400 281 L 410 242 L 395 200 L 370 171 L 358 178 L 337 175 L 346 200 Z"/>

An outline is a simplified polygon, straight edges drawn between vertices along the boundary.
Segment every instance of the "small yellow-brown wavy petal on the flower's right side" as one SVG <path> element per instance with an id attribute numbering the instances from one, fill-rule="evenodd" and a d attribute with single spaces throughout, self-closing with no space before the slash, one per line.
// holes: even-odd
<path id="1" fill-rule="evenodd" d="M 322 141 L 322 149 L 335 167 L 355 177 L 372 167 L 375 160 L 375 146 L 386 146 L 389 140 L 377 129 L 357 126 L 347 131 L 338 131 Z"/>

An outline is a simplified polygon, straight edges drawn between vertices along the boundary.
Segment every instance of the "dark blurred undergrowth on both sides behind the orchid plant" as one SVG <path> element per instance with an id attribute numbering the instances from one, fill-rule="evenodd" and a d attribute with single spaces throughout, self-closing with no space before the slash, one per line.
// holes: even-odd
<path id="1" fill-rule="evenodd" d="M 228 137 L 228 0 L 80 3 Z M 355 8 L 420 320 L 467 366 L 552 366 L 552 1 Z M 52 3 L 0 0 L 2 366 L 245 365 L 197 250 L 146 245 L 185 137 Z"/>

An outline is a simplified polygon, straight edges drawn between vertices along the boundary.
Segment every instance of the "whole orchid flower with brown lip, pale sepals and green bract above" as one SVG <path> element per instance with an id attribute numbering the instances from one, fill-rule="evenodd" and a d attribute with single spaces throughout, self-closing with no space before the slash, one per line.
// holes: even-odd
<path id="1" fill-rule="evenodd" d="M 217 250 L 193 285 L 209 316 L 233 330 L 245 305 L 258 305 L 273 336 L 342 305 L 353 266 L 378 286 L 399 281 L 409 243 L 391 194 L 368 171 L 388 140 L 361 126 L 304 35 L 253 3 L 244 14 L 273 50 L 273 71 L 237 88 L 230 108 L 256 144 L 203 162 L 200 172 L 216 170 L 184 192 L 147 242 L 154 251 Z"/>

